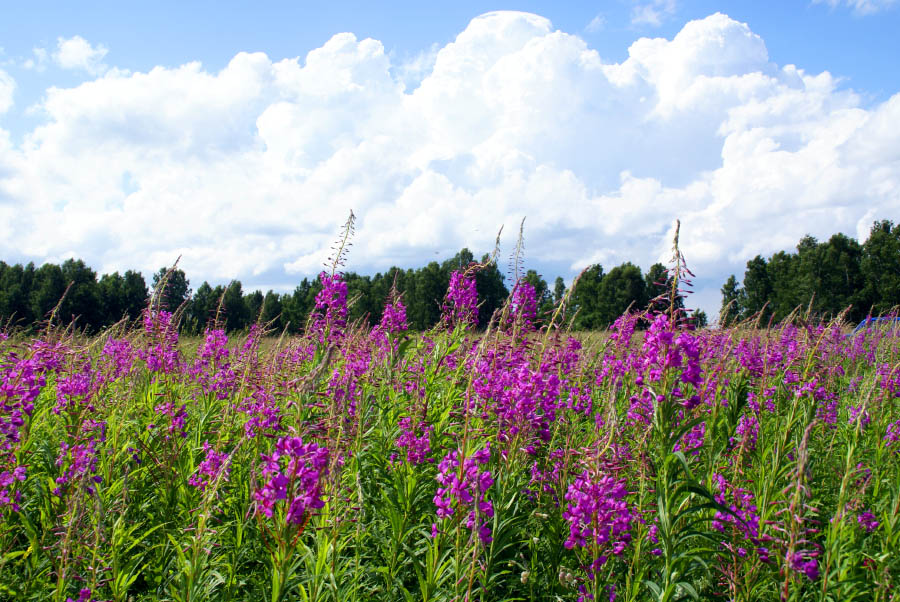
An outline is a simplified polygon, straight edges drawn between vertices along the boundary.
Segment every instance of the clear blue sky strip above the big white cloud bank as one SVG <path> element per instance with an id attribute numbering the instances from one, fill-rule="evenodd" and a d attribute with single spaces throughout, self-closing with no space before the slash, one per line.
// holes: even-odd
<path id="1" fill-rule="evenodd" d="M 659 3 L 660 24 L 632 23 L 636 7 L 613 2 L 9 2 L 3 8 L 0 47 L 6 58 L 52 47 L 80 35 L 110 49 L 110 61 L 135 71 L 199 60 L 224 67 L 239 51 L 272 58 L 302 56 L 333 34 L 349 31 L 380 40 L 399 56 L 453 40 L 468 22 L 494 10 L 534 12 L 577 33 L 604 59 L 621 60 L 643 35 L 671 37 L 685 21 L 723 12 L 748 23 L 779 64 L 831 71 L 847 85 L 884 99 L 900 89 L 900 5 L 891 2 L 672 2 Z M 856 7 L 871 4 L 872 8 Z M 667 10 L 671 6 L 672 10 Z M 883 8 L 877 8 L 883 6 Z M 600 17 L 600 26 L 589 28 Z M 47 78 L 35 78 L 40 86 Z M 30 84 L 31 82 L 29 82 Z M 32 90 L 25 90 L 29 94 Z"/>

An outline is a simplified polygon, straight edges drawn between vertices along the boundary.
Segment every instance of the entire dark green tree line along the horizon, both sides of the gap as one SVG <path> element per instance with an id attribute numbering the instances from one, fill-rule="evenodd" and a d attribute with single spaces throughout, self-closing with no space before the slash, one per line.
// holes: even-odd
<path id="1" fill-rule="evenodd" d="M 503 306 L 515 284 L 504 277 L 496 263 L 487 260 L 488 256 L 483 256 L 481 263 L 486 267 L 475 272 L 481 328 Z M 475 261 L 471 251 L 462 249 L 442 263 L 433 261 L 418 269 L 392 267 L 374 276 L 346 272 L 348 318 L 377 324 L 385 301 L 396 287 L 407 307 L 410 328 L 431 328 L 440 319 L 450 274 Z M 609 272 L 595 264 L 581 274 L 572 291 L 566 290 L 560 277 L 551 287 L 535 270 L 527 270 L 521 278 L 534 287 L 538 323 L 546 322 L 568 294 L 566 314 L 557 319 L 580 330 L 605 328 L 629 307 L 665 312 L 672 303 L 673 283 L 669 271 L 659 263 L 646 273 L 630 262 Z M 202 333 L 210 324 L 239 331 L 254 322 L 297 333 L 306 327 L 320 290 L 318 278 L 304 278 L 288 293 L 245 292 L 241 282 L 235 280 L 227 286 L 203 282 L 192 294 L 190 281 L 180 269 L 160 268 L 148 288 L 138 272 L 114 272 L 98 278 L 76 259 L 39 268 L 31 263 L 7 265 L 0 261 L 0 327 L 33 331 L 52 314 L 57 324 L 74 323 L 77 328 L 96 332 L 123 319 L 136 320 L 152 292 L 159 307 L 182 312 L 181 328 L 188 334 Z M 795 252 L 780 251 L 768 259 L 754 257 L 747 262 L 743 282 L 731 275 L 721 292 L 720 321 L 725 325 L 751 317 L 763 323 L 779 321 L 797 307 L 829 317 L 852 306 L 849 318 L 853 321 L 886 312 L 900 304 L 900 226 L 890 221 L 875 222 L 863 244 L 843 234 L 835 234 L 826 242 L 806 236 Z M 675 295 L 674 302 L 676 309 L 684 309 L 680 294 Z M 697 326 L 707 321 L 702 311 L 689 314 L 689 319 Z"/>

